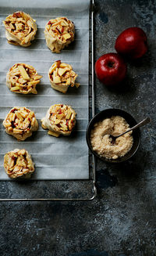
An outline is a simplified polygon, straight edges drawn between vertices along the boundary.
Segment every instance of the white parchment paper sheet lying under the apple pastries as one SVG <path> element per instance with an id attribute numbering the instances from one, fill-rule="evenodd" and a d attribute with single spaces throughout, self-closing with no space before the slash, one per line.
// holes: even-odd
<path id="1" fill-rule="evenodd" d="M 88 123 L 88 63 L 89 63 L 89 0 L 34 0 L 0 2 L 0 179 L 9 179 L 3 168 L 4 154 L 15 148 L 25 148 L 35 163 L 33 179 L 87 179 L 89 178 L 88 149 L 85 131 Z M 13 7 L 12 7 L 13 5 Z M 9 14 L 23 10 L 37 21 L 35 41 L 28 48 L 9 45 L 5 38 L 2 20 Z M 76 27 L 76 38 L 61 53 L 52 53 L 46 46 L 44 26 L 57 16 L 67 16 Z M 48 69 L 55 60 L 69 63 L 79 75 L 80 88 L 69 88 L 66 95 L 51 88 Z M 28 63 L 38 74 L 43 75 L 37 85 L 37 95 L 19 95 L 9 91 L 5 85 L 6 72 L 15 63 Z M 69 137 L 49 136 L 41 128 L 41 118 L 49 106 L 65 103 L 76 110 L 76 128 Z M 18 142 L 5 133 L 2 125 L 6 114 L 13 106 L 26 106 L 33 110 L 39 129 L 25 142 Z"/>

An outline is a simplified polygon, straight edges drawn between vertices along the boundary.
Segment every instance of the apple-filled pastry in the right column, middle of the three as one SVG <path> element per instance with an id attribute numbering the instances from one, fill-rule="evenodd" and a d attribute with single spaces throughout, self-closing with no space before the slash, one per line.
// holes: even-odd
<path id="1" fill-rule="evenodd" d="M 55 61 L 48 70 L 51 87 L 59 92 L 66 93 L 69 85 L 72 87 L 76 85 L 76 88 L 78 88 L 80 84 L 75 82 L 77 76 L 78 74 L 73 71 L 72 66 L 62 63 L 61 60 Z"/>

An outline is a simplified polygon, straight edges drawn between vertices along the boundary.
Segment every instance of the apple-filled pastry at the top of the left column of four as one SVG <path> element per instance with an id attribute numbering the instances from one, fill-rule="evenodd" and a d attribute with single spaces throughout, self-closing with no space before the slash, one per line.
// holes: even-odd
<path id="1" fill-rule="evenodd" d="M 27 13 L 16 12 L 6 17 L 3 21 L 5 35 L 9 44 L 27 47 L 31 45 L 37 32 L 35 20 Z"/>

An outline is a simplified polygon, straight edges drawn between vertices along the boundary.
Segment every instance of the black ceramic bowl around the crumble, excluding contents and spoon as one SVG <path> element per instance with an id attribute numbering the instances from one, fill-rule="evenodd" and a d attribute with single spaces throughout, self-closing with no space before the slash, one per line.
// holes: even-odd
<path id="1" fill-rule="evenodd" d="M 98 157 L 99 159 L 103 161 L 107 161 L 109 163 L 121 163 L 123 161 L 128 160 L 130 157 L 133 157 L 134 153 L 137 152 L 139 146 L 140 146 L 140 128 L 137 128 L 133 131 L 133 146 L 131 150 L 129 150 L 128 153 L 124 157 L 119 157 L 117 159 L 107 159 L 105 157 L 100 157 L 93 149 L 90 143 L 90 132 L 92 128 L 94 128 L 94 124 L 98 121 L 102 121 L 105 118 L 112 117 L 112 116 L 120 116 L 125 118 L 127 123 L 129 124 L 129 127 L 133 127 L 137 124 L 137 121 L 126 111 L 119 110 L 119 109 L 108 109 L 108 110 L 102 110 L 100 113 L 96 114 L 90 121 L 90 123 L 87 126 L 87 132 L 86 132 L 86 139 L 87 139 L 87 146 L 89 147 L 90 151 L 94 154 L 94 156 Z"/>

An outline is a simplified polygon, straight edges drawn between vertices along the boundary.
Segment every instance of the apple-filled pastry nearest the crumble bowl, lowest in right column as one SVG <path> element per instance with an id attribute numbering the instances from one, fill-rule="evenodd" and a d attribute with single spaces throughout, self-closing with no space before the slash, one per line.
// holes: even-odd
<path id="1" fill-rule="evenodd" d="M 55 104 L 50 106 L 46 116 L 41 120 L 44 129 L 48 129 L 48 135 L 70 135 L 76 124 L 76 112 L 71 106 Z"/>

